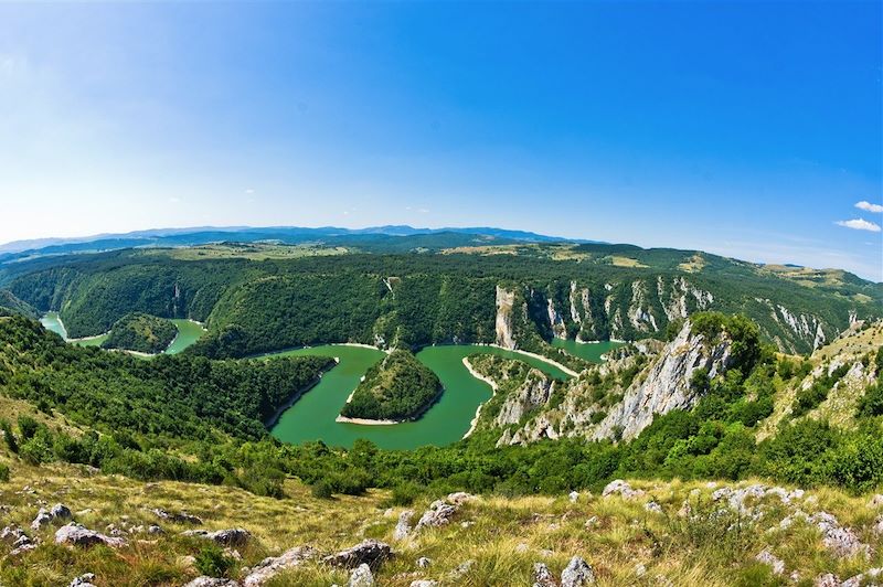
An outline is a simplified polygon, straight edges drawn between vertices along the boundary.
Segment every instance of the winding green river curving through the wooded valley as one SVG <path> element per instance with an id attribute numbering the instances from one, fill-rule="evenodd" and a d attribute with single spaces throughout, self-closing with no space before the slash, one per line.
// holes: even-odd
<path id="1" fill-rule="evenodd" d="M 43 325 L 67 340 L 67 332 L 57 312 L 49 312 L 41 319 Z M 193 344 L 204 332 L 201 324 L 191 320 L 172 320 L 178 328 L 178 337 L 166 350 L 168 354 L 179 353 Z M 106 334 L 88 339 L 72 340 L 81 345 L 100 345 Z M 592 362 L 600 362 L 600 356 L 620 343 L 554 340 L 552 344 L 576 356 Z M 443 446 L 462 438 L 469 429 L 476 409 L 490 399 L 490 385 L 475 378 L 462 360 L 470 354 L 490 353 L 508 359 L 518 359 L 540 369 L 558 380 L 567 374 L 555 365 L 518 351 L 506 351 L 496 346 L 471 344 L 427 346 L 417 353 L 417 359 L 432 369 L 442 380 L 445 391 L 438 402 L 422 418 L 389 426 L 368 426 L 336 421 L 340 409 L 350 393 L 355 389 L 362 375 L 371 365 L 381 360 L 383 351 L 377 349 L 326 344 L 321 346 L 279 351 L 260 355 L 259 359 L 277 356 L 334 356 L 339 364 L 326 373 L 321 381 L 306 392 L 291 407 L 283 413 L 273 427 L 273 435 L 285 442 L 300 444 L 322 440 L 330 446 L 351 447 L 359 438 L 366 438 L 379 447 L 411 449 L 425 445 Z"/>

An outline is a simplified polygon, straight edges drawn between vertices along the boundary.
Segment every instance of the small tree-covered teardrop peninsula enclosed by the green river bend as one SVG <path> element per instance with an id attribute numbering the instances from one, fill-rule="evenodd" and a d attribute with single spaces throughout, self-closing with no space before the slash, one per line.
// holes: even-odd
<path id="1" fill-rule="evenodd" d="M 372 420 L 414 419 L 442 393 L 433 371 L 405 350 L 395 350 L 365 373 L 340 415 Z"/>

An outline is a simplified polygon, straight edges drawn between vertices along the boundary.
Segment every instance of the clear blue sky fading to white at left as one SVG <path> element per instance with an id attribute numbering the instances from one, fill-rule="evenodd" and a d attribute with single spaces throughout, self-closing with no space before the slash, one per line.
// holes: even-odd
<path id="1" fill-rule="evenodd" d="M 880 2 L 0 4 L 0 241 L 494 225 L 883 280 L 881 22 Z"/>

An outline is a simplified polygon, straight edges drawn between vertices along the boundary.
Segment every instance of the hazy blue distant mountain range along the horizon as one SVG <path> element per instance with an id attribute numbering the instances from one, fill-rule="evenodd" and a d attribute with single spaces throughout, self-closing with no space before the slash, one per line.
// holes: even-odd
<path id="1" fill-rule="evenodd" d="M 342 228 L 338 226 L 322 226 L 318 228 L 302 226 L 194 226 L 189 228 L 156 228 L 119 234 L 98 234 L 75 238 L 14 241 L 0 245 L 0 263 L 42 255 L 115 250 L 119 248 L 143 246 L 193 246 L 225 241 L 242 243 L 273 241 L 285 244 L 298 244 L 316 239 L 340 239 L 341 237 L 358 237 L 364 235 L 416 236 L 438 234 L 487 236 L 498 242 L 600 243 L 600 241 L 564 238 L 528 231 L 508 231 L 490 226 L 446 228 L 415 228 L 407 225 L 371 226 L 368 228 Z"/>

